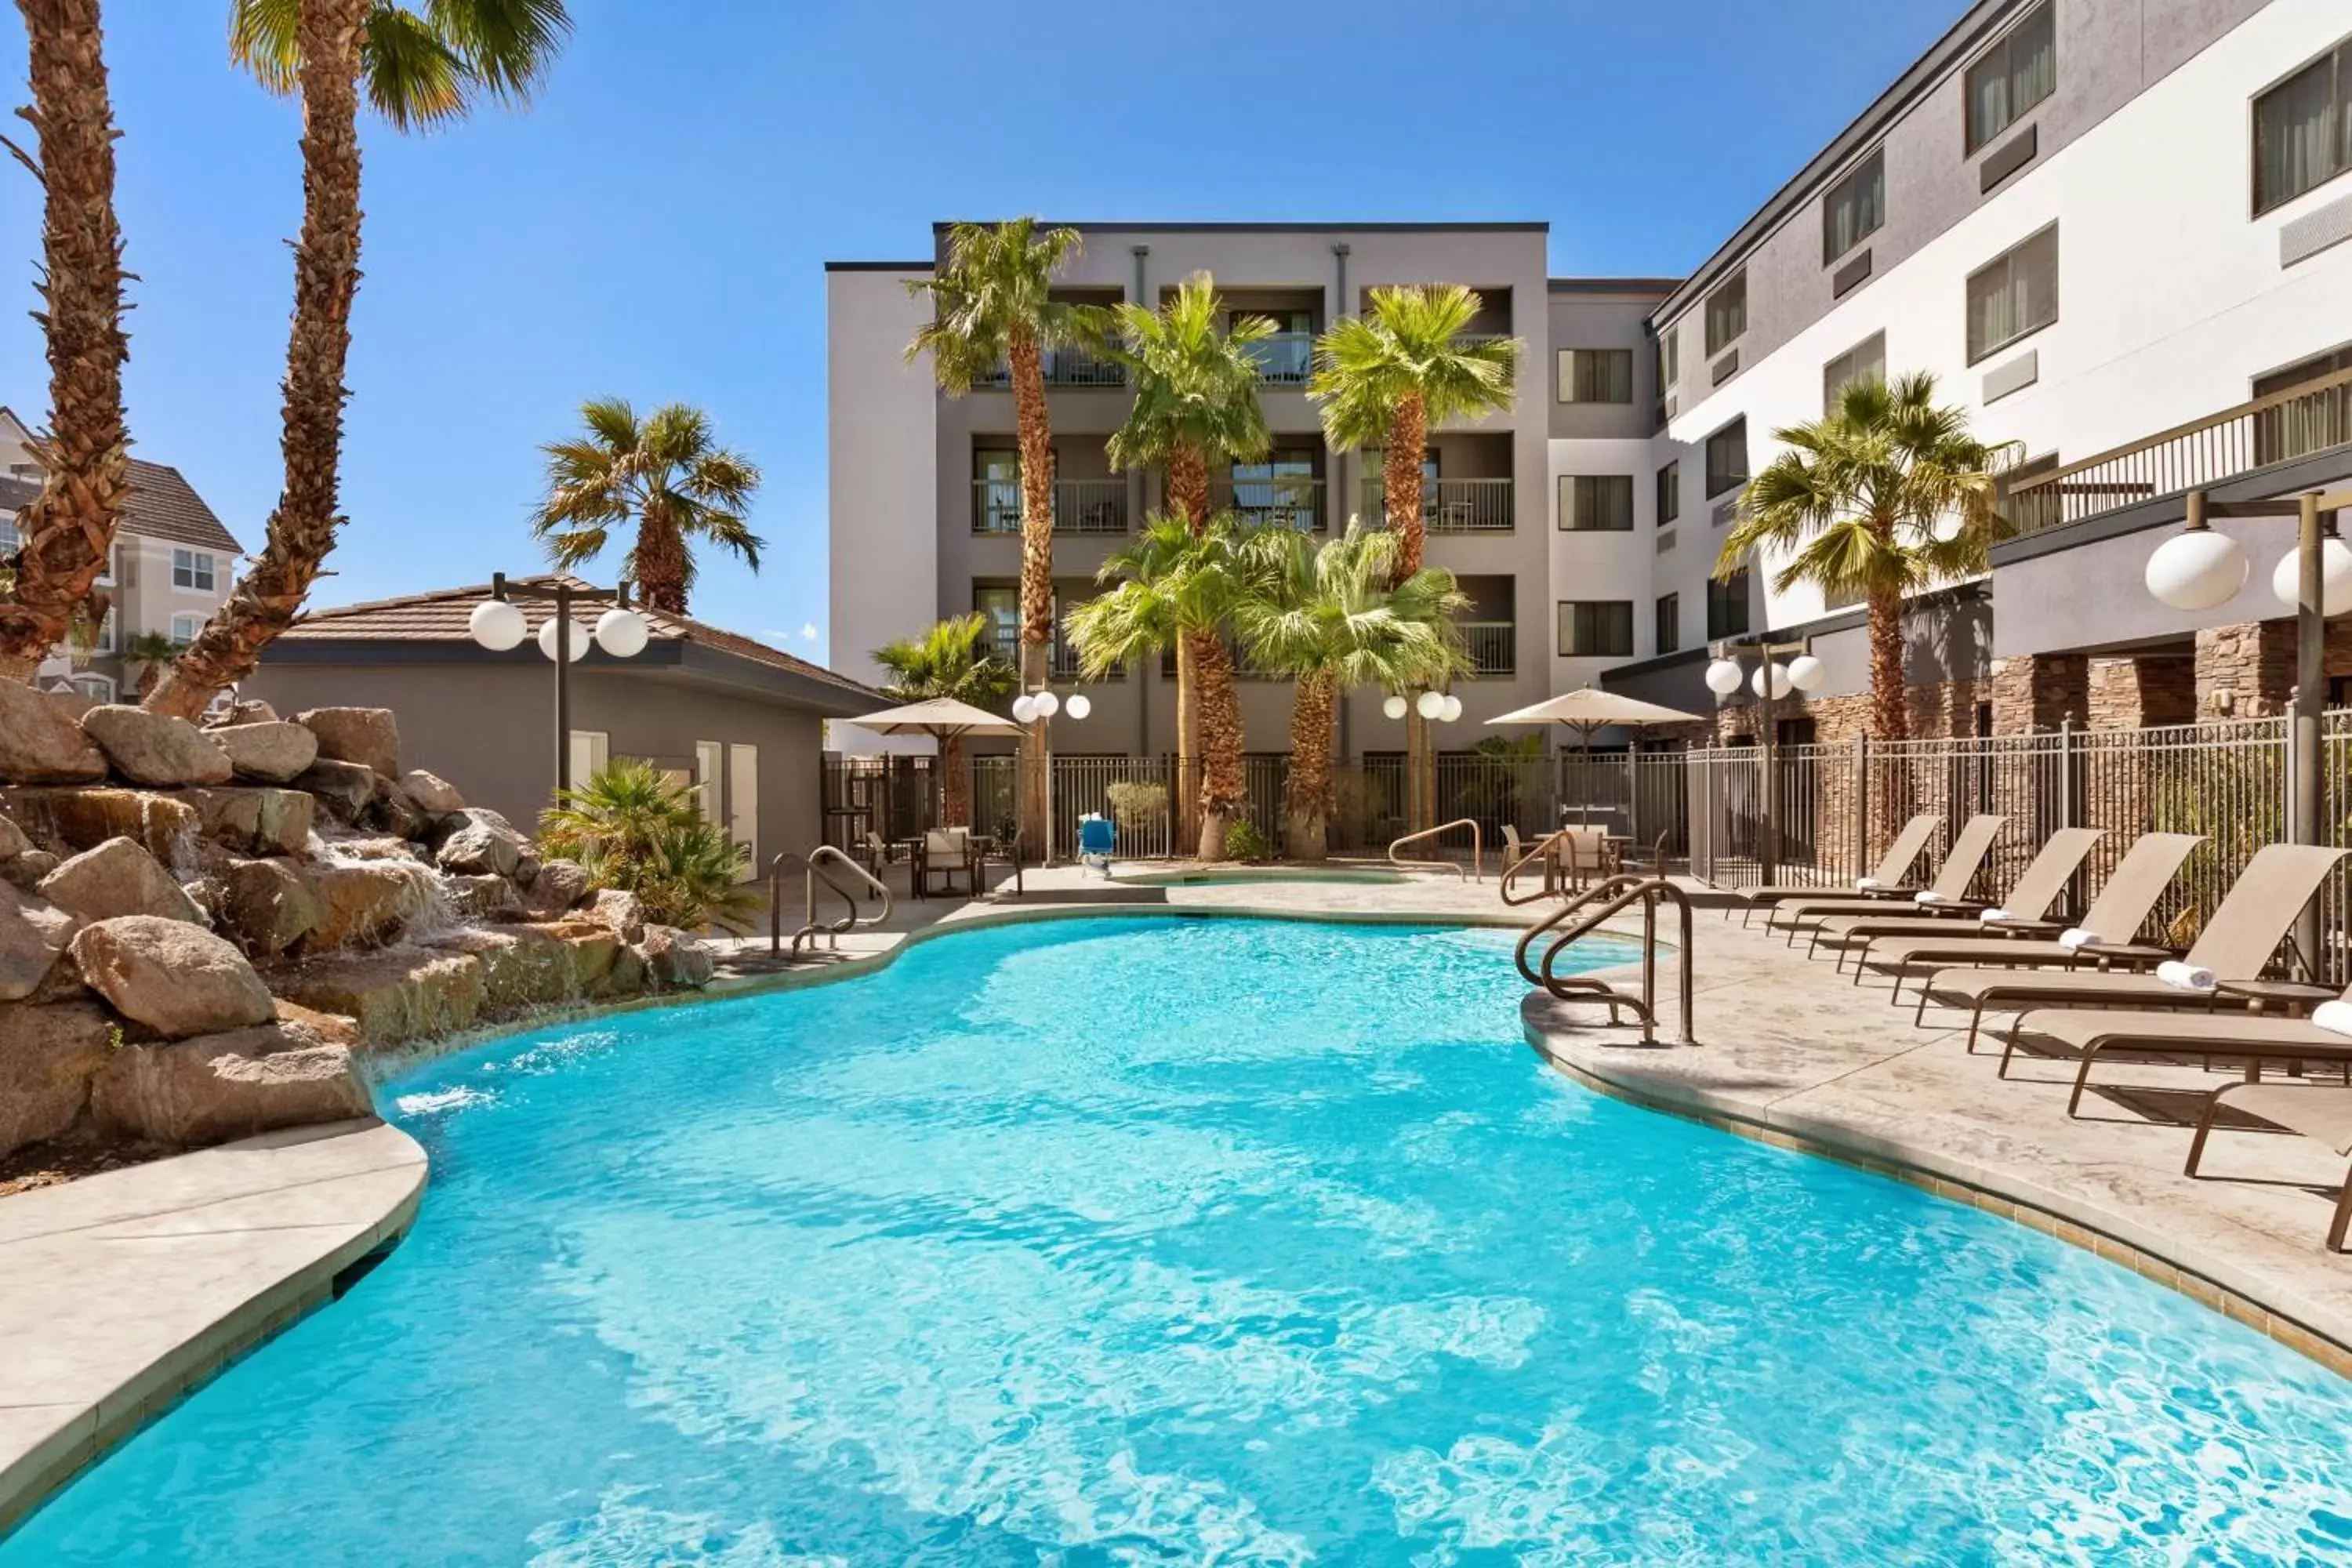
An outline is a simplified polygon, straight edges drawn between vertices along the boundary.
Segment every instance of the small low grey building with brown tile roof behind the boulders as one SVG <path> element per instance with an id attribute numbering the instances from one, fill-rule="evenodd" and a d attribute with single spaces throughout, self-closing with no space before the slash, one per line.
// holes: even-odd
<path id="1" fill-rule="evenodd" d="M 588 590 L 581 578 L 515 585 Z M 273 642 L 240 689 L 282 715 L 303 708 L 390 708 L 402 766 L 440 773 L 477 806 L 529 827 L 555 792 L 555 668 L 539 639 L 492 654 L 470 616 L 489 583 L 320 609 Z M 532 630 L 553 604 L 517 599 Z M 574 609 L 593 628 L 600 607 Z M 590 644 L 572 665 L 564 743 L 574 783 L 616 757 L 640 757 L 694 785 L 706 809 L 764 863 L 821 835 L 823 726 L 887 698 L 847 675 L 687 616 L 642 609 L 642 654 Z"/>

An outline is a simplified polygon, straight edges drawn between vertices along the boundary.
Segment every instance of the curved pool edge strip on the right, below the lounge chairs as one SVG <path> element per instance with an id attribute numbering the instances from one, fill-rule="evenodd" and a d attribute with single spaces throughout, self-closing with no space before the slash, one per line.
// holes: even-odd
<path id="1" fill-rule="evenodd" d="M 1675 1074 L 1644 1072 L 1642 1058 L 1661 1051 L 1656 1046 L 1602 1046 L 1611 1058 L 1595 1060 L 1595 1041 L 1571 1039 L 1548 1027 L 1548 1004 L 1550 997 L 1543 992 L 1529 992 L 1519 1001 L 1519 1027 L 1526 1044 L 1555 1072 L 1595 1093 L 1776 1150 L 1835 1159 L 1955 1204 L 1983 1208 L 2117 1262 L 2277 1340 L 2340 1378 L 2352 1378 L 2352 1321 L 2305 1300 L 2293 1286 L 2180 1246 L 2171 1232 L 2154 1229 L 2086 1192 L 2067 1192 L 2034 1180 L 2020 1168 L 1966 1159 L 1933 1143 L 1891 1135 L 1853 1119 L 1792 1112 L 1769 1100 L 1750 1103 L 1710 1093 Z"/>

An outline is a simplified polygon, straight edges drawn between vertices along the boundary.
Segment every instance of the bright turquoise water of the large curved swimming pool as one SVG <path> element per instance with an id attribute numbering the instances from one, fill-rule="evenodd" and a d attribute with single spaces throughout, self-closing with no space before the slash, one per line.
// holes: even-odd
<path id="1" fill-rule="evenodd" d="M 1517 997 L 1087 919 L 496 1041 L 388 1091 L 409 1241 L 0 1563 L 2352 1559 L 2345 1382 Z"/>

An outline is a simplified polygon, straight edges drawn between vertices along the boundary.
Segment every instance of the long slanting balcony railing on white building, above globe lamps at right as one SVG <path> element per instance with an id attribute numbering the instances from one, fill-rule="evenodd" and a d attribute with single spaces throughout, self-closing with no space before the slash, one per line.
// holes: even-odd
<path id="1" fill-rule="evenodd" d="M 2006 510 L 2018 534 L 2039 534 L 2345 444 L 2352 444 L 2352 371 L 2336 371 L 2018 480 Z"/>

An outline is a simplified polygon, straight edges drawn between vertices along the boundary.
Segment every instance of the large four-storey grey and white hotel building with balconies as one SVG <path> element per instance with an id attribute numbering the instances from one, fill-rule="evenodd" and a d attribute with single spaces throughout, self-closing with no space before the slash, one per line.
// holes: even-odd
<path id="1" fill-rule="evenodd" d="M 2270 567 L 2291 527 L 2225 522 L 2253 557 L 2213 611 L 2140 581 L 2183 491 L 2284 496 L 2352 475 L 2352 12 L 2343 0 L 1983 0 L 1684 280 L 1548 277 L 1536 223 L 1082 223 L 1068 299 L 1157 303 L 1207 268 L 1263 350 L 1268 463 L 1218 475 L 1244 517 L 1327 534 L 1378 520 L 1378 454 L 1329 451 L 1308 346 L 1388 282 L 1463 282 L 1526 346 L 1508 414 L 1432 435 L 1432 564 L 1472 595 L 1465 719 L 1578 684 L 1712 712 L 1710 644 L 1804 639 L 1830 679 L 1785 733 L 1863 724 L 1860 609 L 1780 592 L 1776 562 L 1715 578 L 1776 430 L 1858 376 L 1931 371 L 2025 458 L 2020 534 L 1990 576 L 1912 602 L 1915 733 L 2136 726 L 2277 712 L 2291 621 Z M 934 244 L 938 242 L 934 233 Z M 1011 395 L 943 397 L 903 348 L 931 259 L 828 270 L 830 616 L 840 668 L 981 609 L 1011 637 Z M 1061 597 L 1157 505 L 1103 437 L 1129 393 L 1049 362 Z M 2340 646 L 2336 646 L 2340 644 Z M 2352 632 L 2331 672 L 2352 677 Z M 1056 684 L 1077 684 L 1056 651 Z M 1063 752 L 1171 750 L 1174 682 L 1127 670 L 1056 724 Z M 1348 757 L 1402 748 L 1355 693 Z M 1284 684 L 1244 686 L 1251 750 L 1287 745 Z M 1722 733 L 1740 733 L 1733 701 Z M 851 752 L 882 738 L 844 733 Z"/>

